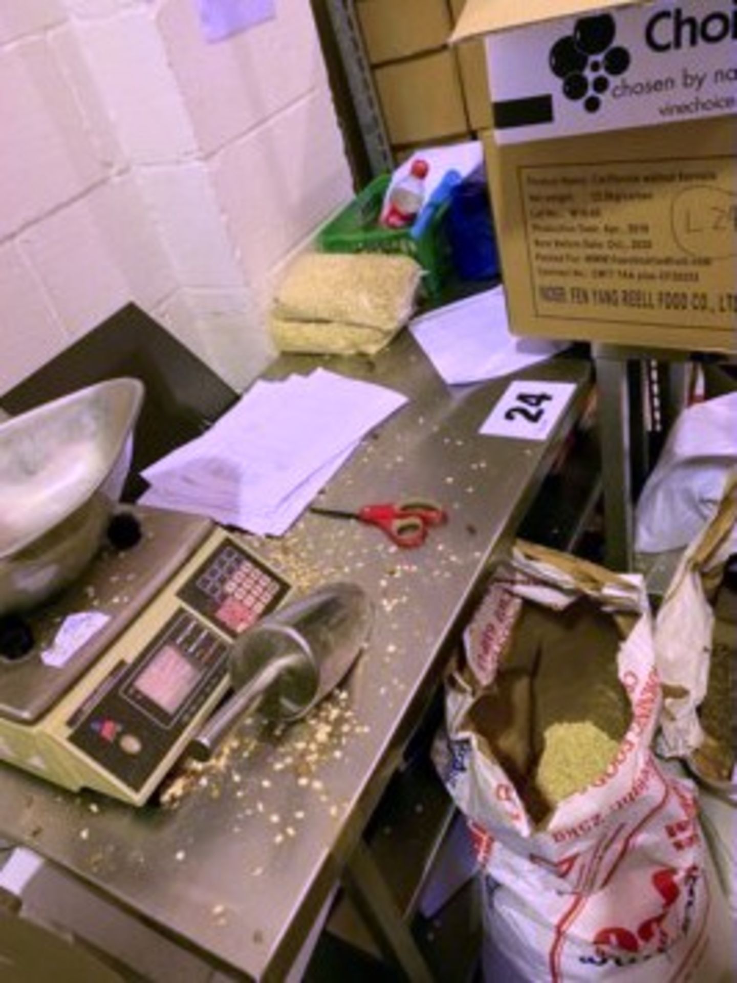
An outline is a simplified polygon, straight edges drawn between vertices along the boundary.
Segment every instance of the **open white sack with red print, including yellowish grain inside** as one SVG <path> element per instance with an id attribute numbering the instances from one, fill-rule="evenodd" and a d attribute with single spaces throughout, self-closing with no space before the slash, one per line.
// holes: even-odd
<path id="1" fill-rule="evenodd" d="M 433 757 L 477 841 L 487 978 L 685 978 L 709 886 L 695 787 L 652 753 L 642 579 L 518 542 L 464 650 Z"/>

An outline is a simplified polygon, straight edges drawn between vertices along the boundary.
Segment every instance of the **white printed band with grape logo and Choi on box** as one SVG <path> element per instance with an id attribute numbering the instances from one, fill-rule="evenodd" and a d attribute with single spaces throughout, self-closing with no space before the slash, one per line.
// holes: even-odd
<path id="1" fill-rule="evenodd" d="M 501 31 L 486 37 L 486 60 L 498 144 L 723 116 L 737 109 L 737 0 Z"/>

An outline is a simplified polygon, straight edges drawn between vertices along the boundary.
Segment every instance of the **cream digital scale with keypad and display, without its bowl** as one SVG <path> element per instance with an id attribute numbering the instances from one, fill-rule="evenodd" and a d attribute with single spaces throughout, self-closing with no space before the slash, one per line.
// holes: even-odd
<path id="1" fill-rule="evenodd" d="M 31 650 L 0 656 L 0 759 L 142 805 L 225 694 L 234 639 L 290 585 L 207 519 L 135 515 L 140 541 L 106 544 L 28 615 Z"/>

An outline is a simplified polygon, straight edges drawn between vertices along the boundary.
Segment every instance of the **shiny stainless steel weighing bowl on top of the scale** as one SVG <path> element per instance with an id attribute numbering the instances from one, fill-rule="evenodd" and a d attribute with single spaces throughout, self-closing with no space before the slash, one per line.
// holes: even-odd
<path id="1" fill-rule="evenodd" d="M 116 378 L 0 424 L 0 614 L 42 604 L 98 549 L 131 464 L 139 379 Z"/>

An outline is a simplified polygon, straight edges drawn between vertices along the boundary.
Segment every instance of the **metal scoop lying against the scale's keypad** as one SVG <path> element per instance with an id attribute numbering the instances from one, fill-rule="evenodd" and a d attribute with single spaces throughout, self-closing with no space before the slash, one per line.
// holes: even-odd
<path id="1" fill-rule="evenodd" d="M 190 745 L 200 761 L 246 711 L 295 721 L 327 696 L 369 639 L 373 605 L 358 584 L 328 584 L 245 632 L 230 654 L 235 692 Z"/>

